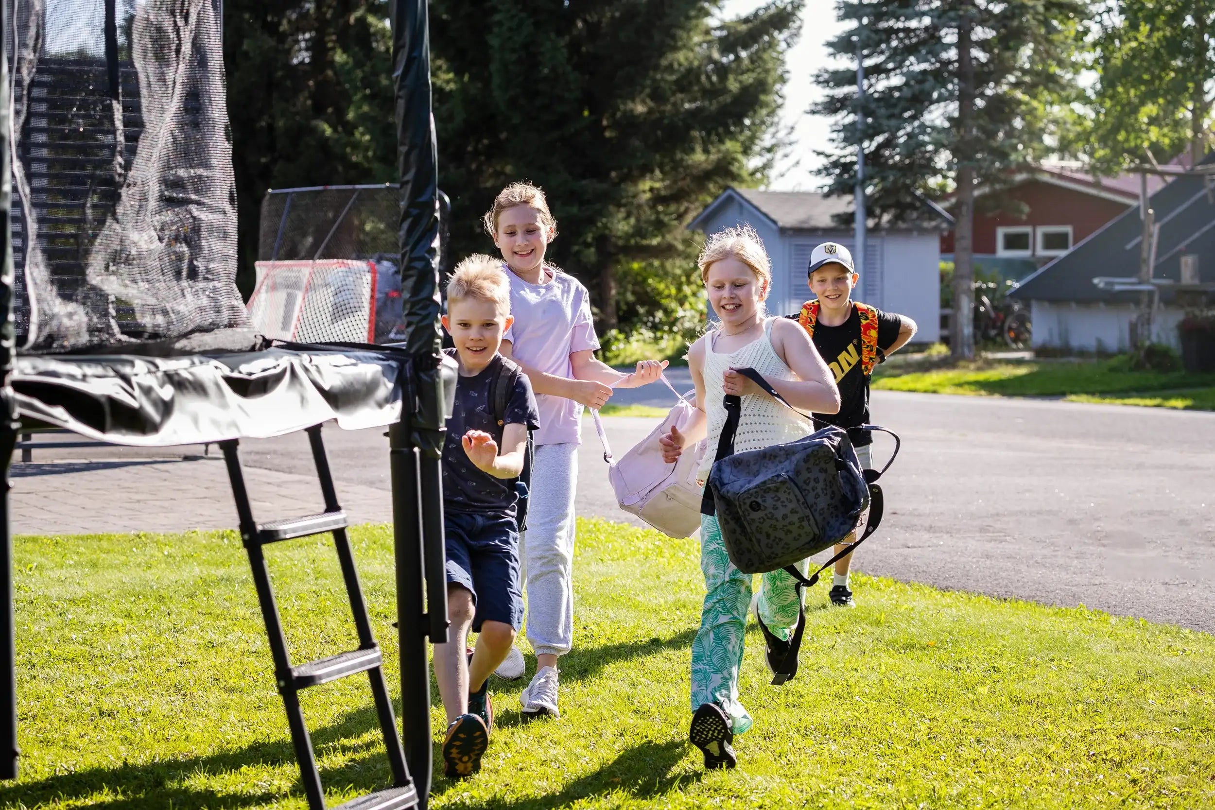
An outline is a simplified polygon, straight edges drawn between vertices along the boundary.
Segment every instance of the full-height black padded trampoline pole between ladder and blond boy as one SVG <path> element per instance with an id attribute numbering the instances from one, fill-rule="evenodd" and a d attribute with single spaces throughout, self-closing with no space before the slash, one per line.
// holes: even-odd
<path id="1" fill-rule="evenodd" d="M 402 740 L 420 806 L 430 795 L 430 642 L 447 640 L 443 573 L 443 386 L 439 359 L 437 169 L 430 112 L 425 0 L 392 0 L 392 85 L 400 181 L 402 316 L 407 379 L 401 421 L 389 431 L 401 655 Z M 426 594 L 423 612 L 423 594 Z"/>

